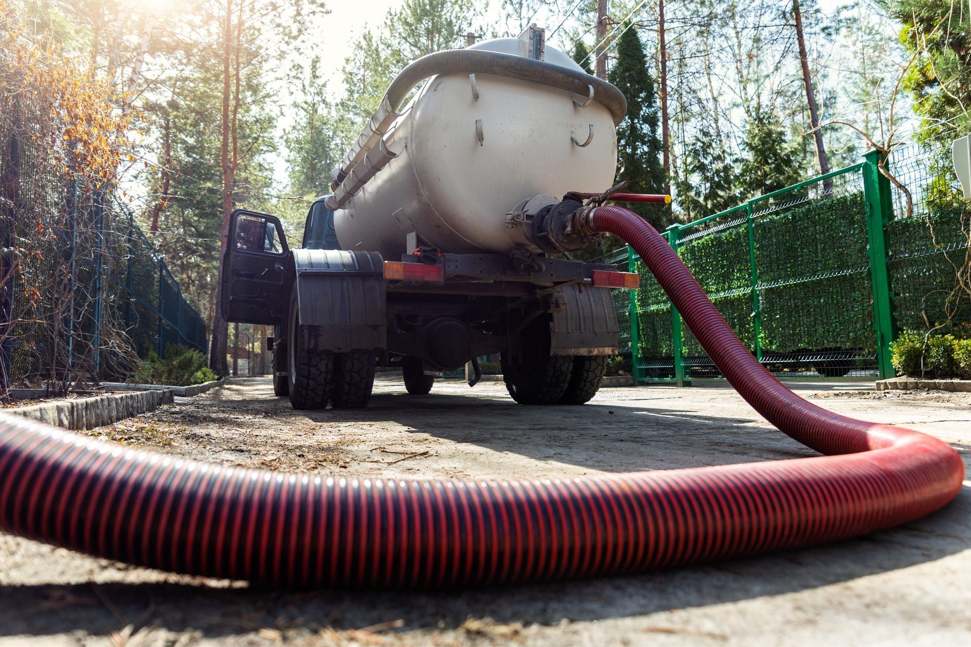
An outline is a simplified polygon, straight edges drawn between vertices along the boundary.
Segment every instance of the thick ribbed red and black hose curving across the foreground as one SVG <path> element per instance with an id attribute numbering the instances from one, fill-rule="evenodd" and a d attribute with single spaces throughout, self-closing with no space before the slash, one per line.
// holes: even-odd
<path id="1" fill-rule="evenodd" d="M 954 499 L 948 444 L 792 394 L 754 360 L 671 248 L 633 245 L 720 371 L 824 454 L 557 480 L 360 479 L 225 468 L 0 416 L 0 530 L 164 570 L 287 585 L 429 587 L 585 577 L 871 533 Z"/>

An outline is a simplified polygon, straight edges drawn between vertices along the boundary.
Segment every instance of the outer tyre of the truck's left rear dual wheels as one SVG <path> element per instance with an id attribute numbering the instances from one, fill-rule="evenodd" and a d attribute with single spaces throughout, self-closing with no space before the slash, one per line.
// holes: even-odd
<path id="1" fill-rule="evenodd" d="M 290 404 L 295 409 L 326 408 L 334 381 L 334 354 L 307 347 L 305 326 L 300 324 L 297 311 L 296 290 L 290 296 L 289 313 L 286 381 Z"/>

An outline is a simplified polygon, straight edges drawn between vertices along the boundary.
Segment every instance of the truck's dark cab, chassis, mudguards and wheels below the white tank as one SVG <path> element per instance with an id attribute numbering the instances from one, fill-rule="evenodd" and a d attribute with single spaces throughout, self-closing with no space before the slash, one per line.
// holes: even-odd
<path id="1" fill-rule="evenodd" d="M 522 250 L 451 254 L 420 239 L 401 254 L 349 250 L 326 197 L 298 247 L 279 218 L 236 210 L 219 304 L 230 322 L 276 328 L 274 392 L 294 408 L 365 406 L 377 367 L 400 369 L 425 395 L 442 372 L 499 354 L 519 404 L 584 404 L 617 354 L 608 286 L 634 288 L 614 266 Z"/>

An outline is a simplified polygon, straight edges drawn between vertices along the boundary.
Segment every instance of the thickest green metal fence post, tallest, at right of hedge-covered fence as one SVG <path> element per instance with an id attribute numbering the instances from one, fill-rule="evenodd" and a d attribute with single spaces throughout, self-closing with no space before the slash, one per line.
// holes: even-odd
<path id="1" fill-rule="evenodd" d="M 890 182 L 880 173 L 883 154 L 871 150 L 863 156 L 863 195 L 866 199 L 867 254 L 870 262 L 870 284 L 873 291 L 873 325 L 877 333 L 877 367 L 880 378 L 896 373 L 890 362 L 890 341 L 893 340 L 893 304 L 887 272 L 886 227 L 893 202 Z"/>

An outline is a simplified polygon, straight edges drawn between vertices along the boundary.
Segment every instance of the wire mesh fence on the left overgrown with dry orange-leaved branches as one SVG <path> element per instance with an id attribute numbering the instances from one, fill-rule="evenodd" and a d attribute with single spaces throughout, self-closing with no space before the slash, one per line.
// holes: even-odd
<path id="1" fill-rule="evenodd" d="M 119 199 L 133 109 L 28 27 L 0 11 L 0 395 L 125 377 L 171 343 L 206 349 Z"/>

